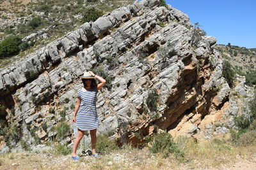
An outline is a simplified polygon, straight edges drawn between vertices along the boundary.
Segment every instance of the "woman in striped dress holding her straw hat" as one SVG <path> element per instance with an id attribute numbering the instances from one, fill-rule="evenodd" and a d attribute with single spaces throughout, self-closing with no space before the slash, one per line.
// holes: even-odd
<path id="1" fill-rule="evenodd" d="M 76 108 L 74 111 L 74 117 L 72 122 L 77 123 L 77 137 L 74 141 L 72 159 L 78 160 L 76 150 L 84 136 L 84 131 L 90 130 L 91 143 L 92 143 L 92 155 L 95 158 L 99 158 L 96 153 L 96 132 L 99 127 L 99 120 L 96 111 L 97 90 L 104 87 L 106 80 L 92 73 L 92 71 L 85 72 L 81 77 L 84 87 L 77 90 Z M 100 81 L 99 85 L 96 84 L 95 78 Z"/>

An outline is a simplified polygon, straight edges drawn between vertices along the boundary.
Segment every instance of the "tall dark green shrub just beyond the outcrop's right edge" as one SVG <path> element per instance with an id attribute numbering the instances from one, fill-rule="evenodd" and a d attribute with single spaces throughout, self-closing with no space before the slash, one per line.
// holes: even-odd
<path id="1" fill-rule="evenodd" d="M 223 77 L 227 80 L 228 85 L 230 87 L 233 87 L 235 72 L 234 72 L 234 69 L 232 69 L 230 62 L 228 62 L 227 60 L 224 60 L 224 62 L 223 62 L 223 73 L 222 74 L 223 74 Z"/>

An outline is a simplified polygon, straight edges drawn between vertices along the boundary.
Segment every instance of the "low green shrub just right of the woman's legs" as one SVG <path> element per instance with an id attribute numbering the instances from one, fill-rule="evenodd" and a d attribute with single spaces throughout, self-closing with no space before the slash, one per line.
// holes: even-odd
<path id="1" fill-rule="evenodd" d="M 115 150 L 118 146 L 116 145 L 113 139 L 108 138 L 106 135 L 99 135 L 97 136 L 97 146 L 96 150 L 99 153 L 108 153 Z"/>

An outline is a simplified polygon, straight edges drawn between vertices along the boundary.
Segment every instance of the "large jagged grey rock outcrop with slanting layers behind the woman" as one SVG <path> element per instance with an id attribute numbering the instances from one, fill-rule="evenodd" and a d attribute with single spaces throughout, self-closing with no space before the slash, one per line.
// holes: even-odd
<path id="1" fill-rule="evenodd" d="M 60 120 L 71 124 L 79 76 L 93 69 L 108 80 L 98 93 L 99 132 L 136 145 L 157 129 L 200 134 L 214 122 L 205 118 L 216 116 L 230 92 L 215 43 L 181 11 L 157 0 L 137 1 L 2 69 L 1 115 L 9 124 L 19 122 L 20 139 L 28 145 L 35 138 L 49 141 Z M 63 143 L 71 143 L 70 133 Z"/>

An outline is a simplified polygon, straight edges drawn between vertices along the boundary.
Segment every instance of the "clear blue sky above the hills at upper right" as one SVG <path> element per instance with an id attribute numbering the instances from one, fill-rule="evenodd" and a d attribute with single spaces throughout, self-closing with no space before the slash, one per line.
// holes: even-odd
<path id="1" fill-rule="evenodd" d="M 256 0 L 166 0 L 218 44 L 256 48 Z"/>

